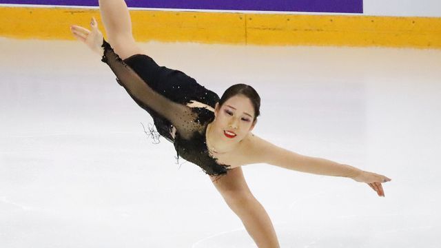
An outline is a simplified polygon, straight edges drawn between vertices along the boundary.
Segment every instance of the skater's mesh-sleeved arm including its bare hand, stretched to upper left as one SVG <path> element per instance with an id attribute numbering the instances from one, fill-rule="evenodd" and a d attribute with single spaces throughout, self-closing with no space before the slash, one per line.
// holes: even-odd
<path id="1" fill-rule="evenodd" d="M 201 125 L 194 121 L 196 114 L 192 112 L 190 107 L 174 103 L 155 92 L 130 66 L 121 60 L 110 44 L 103 39 L 103 34 L 99 31 L 95 19 L 92 19 L 90 25 L 92 30 L 72 26 L 72 34 L 76 39 L 88 45 L 92 51 L 103 56 L 102 61 L 110 66 L 118 82 L 139 106 L 145 109 L 150 108 L 169 120 L 182 138 L 190 138 L 195 130 L 201 128 Z"/>

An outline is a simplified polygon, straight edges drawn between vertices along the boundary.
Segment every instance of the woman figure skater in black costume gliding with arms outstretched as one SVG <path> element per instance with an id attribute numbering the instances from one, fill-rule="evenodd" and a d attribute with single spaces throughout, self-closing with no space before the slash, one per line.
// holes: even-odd
<path id="1" fill-rule="evenodd" d="M 159 134 L 174 144 L 178 156 L 209 174 L 258 247 L 279 244 L 267 212 L 245 182 L 242 165 L 268 163 L 300 172 L 344 176 L 367 183 L 378 196 L 384 196 L 382 183 L 391 180 L 386 176 L 296 154 L 252 134 L 260 97 L 251 86 L 233 85 L 219 99 L 183 72 L 160 67 L 145 55 L 132 37 L 125 1 L 99 0 L 99 8 L 112 47 L 93 18 L 91 30 L 72 25 L 72 34 L 110 66 L 116 81 L 149 112 Z"/>

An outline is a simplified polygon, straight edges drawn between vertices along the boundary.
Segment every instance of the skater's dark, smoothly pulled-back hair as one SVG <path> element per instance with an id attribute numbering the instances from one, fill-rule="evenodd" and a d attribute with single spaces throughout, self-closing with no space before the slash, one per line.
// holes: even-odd
<path id="1" fill-rule="evenodd" d="M 228 99 L 236 96 L 238 94 L 242 94 L 246 96 L 254 107 L 254 120 L 256 121 L 257 116 L 260 115 L 260 96 L 250 85 L 246 85 L 245 83 L 238 83 L 236 85 L 230 86 L 225 92 L 223 92 L 222 97 L 219 100 L 219 107 L 227 101 Z"/>

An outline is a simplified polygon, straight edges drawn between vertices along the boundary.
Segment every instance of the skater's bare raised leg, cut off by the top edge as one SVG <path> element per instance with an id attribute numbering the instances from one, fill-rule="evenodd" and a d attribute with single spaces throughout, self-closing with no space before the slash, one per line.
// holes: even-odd
<path id="1" fill-rule="evenodd" d="M 132 35 L 132 21 L 124 0 L 99 0 L 99 10 L 107 39 L 121 59 L 144 54 Z"/>

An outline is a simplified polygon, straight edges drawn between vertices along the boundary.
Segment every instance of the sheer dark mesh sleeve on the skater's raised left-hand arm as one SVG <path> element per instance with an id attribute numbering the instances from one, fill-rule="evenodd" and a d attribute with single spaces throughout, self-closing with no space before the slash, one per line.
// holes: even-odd
<path id="1" fill-rule="evenodd" d="M 107 63 L 116 75 L 116 81 L 125 88 L 134 101 L 144 109 L 152 109 L 176 127 L 182 138 L 191 138 L 201 125 L 197 115 L 190 107 L 175 103 L 154 91 L 141 77 L 114 52 L 109 43 L 103 40 L 104 54 L 101 61 Z"/>

